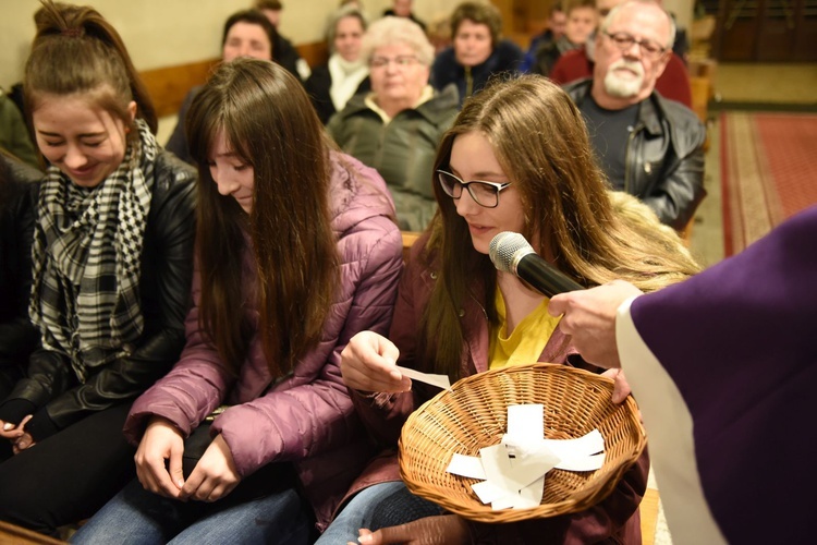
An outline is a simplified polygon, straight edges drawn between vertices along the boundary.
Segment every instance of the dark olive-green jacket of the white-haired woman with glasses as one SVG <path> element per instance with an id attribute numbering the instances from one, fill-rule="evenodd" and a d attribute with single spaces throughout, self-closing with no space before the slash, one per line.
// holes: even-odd
<path id="1" fill-rule="evenodd" d="M 374 167 L 389 186 L 405 231 L 423 231 L 437 211 L 434 159 L 442 134 L 456 118 L 456 89 L 449 85 L 419 105 L 403 110 L 388 124 L 355 95 L 327 131 L 345 153 Z"/>

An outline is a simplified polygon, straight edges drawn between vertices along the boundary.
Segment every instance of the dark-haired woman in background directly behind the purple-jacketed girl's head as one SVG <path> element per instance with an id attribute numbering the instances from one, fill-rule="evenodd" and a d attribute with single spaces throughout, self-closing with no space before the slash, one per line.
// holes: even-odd
<path id="1" fill-rule="evenodd" d="M 279 51 L 273 49 L 277 43 L 278 32 L 261 12 L 256 10 L 239 11 L 230 15 L 224 23 L 224 33 L 221 38 L 221 60 L 230 62 L 239 57 L 272 60 L 300 78 L 294 61 L 290 59 L 291 62 L 285 62 L 286 59 L 280 58 Z M 168 144 L 164 146 L 167 150 L 172 152 L 176 157 L 191 165 L 193 165 L 193 156 L 187 148 L 188 138 L 184 132 L 184 120 L 193 99 L 200 89 L 202 86 L 197 85 L 184 97 L 175 129 L 173 129 Z"/>

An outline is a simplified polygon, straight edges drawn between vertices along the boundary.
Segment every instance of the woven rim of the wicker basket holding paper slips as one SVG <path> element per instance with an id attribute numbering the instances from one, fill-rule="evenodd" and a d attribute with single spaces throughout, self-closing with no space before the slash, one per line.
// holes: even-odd
<path id="1" fill-rule="evenodd" d="M 492 380 L 500 378 L 497 375 L 515 375 L 534 372 L 558 374 L 562 375 L 563 377 L 568 377 L 569 380 L 577 380 L 586 383 L 587 385 L 594 385 L 596 388 L 600 388 L 605 392 L 609 392 L 610 399 L 612 398 L 612 379 L 602 377 L 589 371 L 554 363 L 537 362 L 533 364 L 501 367 L 471 375 L 461 380 L 458 380 L 451 387 L 451 390 L 443 390 L 430 400 L 423 403 L 408 416 L 405 424 L 403 425 L 399 441 L 399 460 L 400 473 L 403 482 L 406 484 L 406 487 L 413 494 L 434 501 L 451 512 L 460 514 L 466 519 L 480 522 L 516 522 L 532 518 L 556 517 L 585 510 L 607 497 L 614 489 L 618 481 L 624 474 L 624 472 L 633 463 L 635 463 L 646 446 L 646 433 L 638 416 L 638 407 L 632 396 L 629 396 L 626 400 L 619 405 L 612 405 L 612 403 L 610 402 L 610 407 L 612 408 L 611 414 L 615 413 L 615 411 L 623 411 L 623 413 L 619 414 L 619 416 L 622 419 L 621 427 L 629 433 L 622 440 L 625 440 L 625 445 L 632 448 L 627 448 L 627 452 L 624 456 L 619 456 L 613 460 L 608 460 L 606 458 L 605 464 L 596 472 L 587 472 L 593 475 L 589 481 L 592 485 L 573 492 L 564 500 L 541 504 L 537 507 L 527 509 L 504 509 L 495 511 L 490 505 L 483 505 L 481 502 L 479 502 L 479 500 L 476 499 L 476 496 L 473 493 L 471 493 L 473 498 L 471 498 L 471 500 L 468 501 L 464 501 L 458 496 L 458 494 L 455 494 L 455 492 L 459 491 L 441 491 L 438 486 L 431 486 L 425 483 L 420 479 L 420 475 L 413 474 L 413 470 L 411 468 L 412 455 L 407 452 L 407 449 L 405 448 L 405 441 L 410 440 L 410 435 L 416 431 L 416 426 L 422 425 L 422 423 L 418 423 L 418 421 L 423 419 L 427 412 L 431 411 L 432 408 L 444 409 L 446 402 L 450 402 L 452 399 L 455 400 L 458 393 L 464 391 L 466 388 L 474 387 L 475 383 L 491 384 Z M 542 377 L 544 376 L 545 375 L 542 375 Z M 540 379 L 541 377 L 538 378 Z M 496 443 L 498 443 L 498 440 L 493 444 Z M 607 452 L 608 437 L 605 437 L 605 450 Z M 488 445 L 486 444 L 481 446 Z M 453 451 L 447 452 L 448 460 L 450 460 L 450 456 L 452 453 Z M 448 463 L 448 460 L 444 461 L 444 464 Z M 553 471 L 558 472 L 562 470 Z M 465 477 L 458 479 L 464 480 L 463 483 L 465 484 L 477 482 L 477 480 L 468 480 Z"/>

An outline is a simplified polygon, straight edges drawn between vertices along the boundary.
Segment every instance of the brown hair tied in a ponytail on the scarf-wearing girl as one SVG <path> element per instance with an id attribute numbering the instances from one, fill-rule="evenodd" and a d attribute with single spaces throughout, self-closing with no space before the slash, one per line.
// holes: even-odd
<path id="1" fill-rule="evenodd" d="M 117 29 L 94 8 L 40 1 L 23 80 L 28 116 L 40 94 L 94 93 L 102 109 L 126 124 L 127 105 L 136 101 L 136 117 L 156 134 L 154 104 Z M 136 131 L 131 134 L 136 137 Z"/>

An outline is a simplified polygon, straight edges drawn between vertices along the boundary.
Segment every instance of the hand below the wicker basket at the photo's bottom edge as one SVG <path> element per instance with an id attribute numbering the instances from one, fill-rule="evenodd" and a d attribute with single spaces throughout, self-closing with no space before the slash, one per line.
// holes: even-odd
<path id="1" fill-rule="evenodd" d="M 386 545 L 405 543 L 407 545 L 451 545 L 468 542 L 468 526 L 456 514 L 426 517 L 399 526 L 381 528 L 377 532 L 359 530 L 357 540 L 363 545 Z M 356 545 L 350 542 L 349 545 Z"/>

